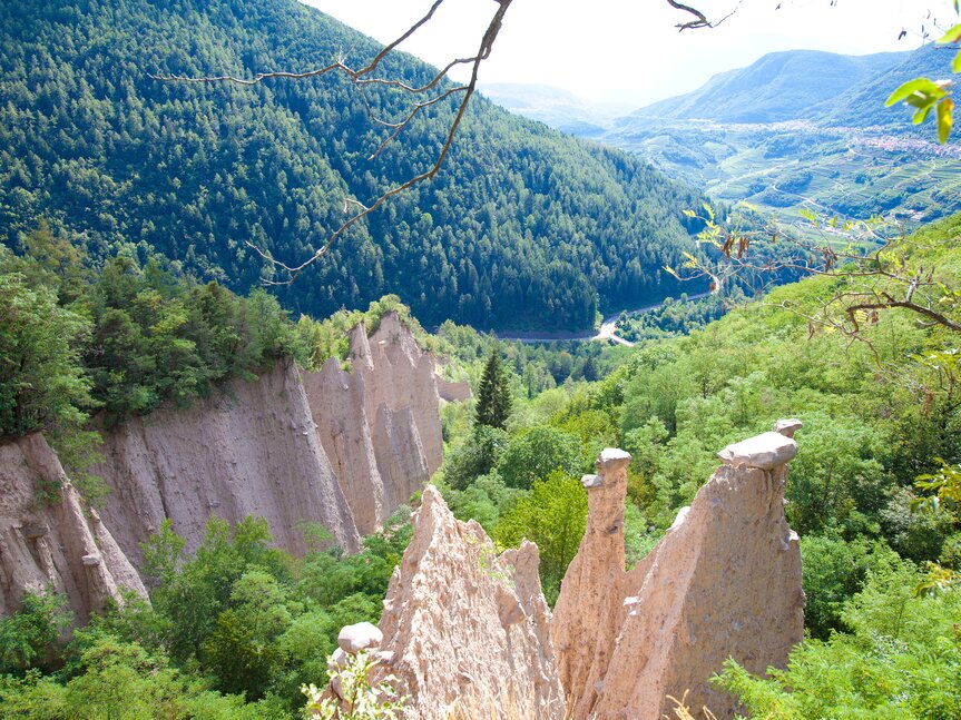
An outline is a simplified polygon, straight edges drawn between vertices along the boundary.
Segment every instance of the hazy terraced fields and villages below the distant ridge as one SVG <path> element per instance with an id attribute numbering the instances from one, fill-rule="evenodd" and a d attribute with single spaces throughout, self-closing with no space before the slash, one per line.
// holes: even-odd
<path id="1" fill-rule="evenodd" d="M 807 121 L 635 121 L 605 138 L 726 201 L 791 223 L 800 213 L 893 217 L 909 228 L 961 209 L 961 149 Z"/>

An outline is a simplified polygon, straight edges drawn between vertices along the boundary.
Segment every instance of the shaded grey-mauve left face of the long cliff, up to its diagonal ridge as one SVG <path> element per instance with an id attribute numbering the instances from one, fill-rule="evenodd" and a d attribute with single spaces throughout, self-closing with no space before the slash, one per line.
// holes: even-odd
<path id="1" fill-rule="evenodd" d="M 302 520 L 322 523 L 349 552 L 360 546 L 293 364 L 187 410 L 128 418 L 104 433 L 102 452 L 92 472 L 110 485 L 104 519 L 135 563 L 165 517 L 189 551 L 212 513 L 232 523 L 265 517 L 292 552 L 305 550 Z"/>

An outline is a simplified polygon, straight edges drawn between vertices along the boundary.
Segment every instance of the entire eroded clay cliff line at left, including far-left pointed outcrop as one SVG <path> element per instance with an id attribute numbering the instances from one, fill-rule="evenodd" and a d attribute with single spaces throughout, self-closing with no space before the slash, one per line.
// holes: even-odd
<path id="1" fill-rule="evenodd" d="M 121 586 L 146 595 L 134 565 L 168 517 L 188 551 L 210 514 L 264 517 L 293 553 L 305 550 L 301 521 L 359 550 L 440 466 L 443 443 L 434 358 L 396 314 L 370 338 L 362 325 L 352 332 L 351 362 L 352 372 L 330 361 L 318 373 L 283 362 L 189 408 L 105 430 L 92 469 L 111 491 L 102 521 L 42 436 L 0 446 L 0 615 L 28 589 L 66 594 L 80 621 Z M 35 502 L 38 479 L 62 481 L 62 497 Z"/>

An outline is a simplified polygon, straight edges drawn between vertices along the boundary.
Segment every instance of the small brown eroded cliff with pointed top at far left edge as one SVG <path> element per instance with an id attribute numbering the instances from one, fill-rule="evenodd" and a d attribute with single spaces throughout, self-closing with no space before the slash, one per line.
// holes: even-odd
<path id="1" fill-rule="evenodd" d="M 63 594 L 86 622 L 121 590 L 147 592 L 99 515 L 39 433 L 0 445 L 0 617 L 23 593 Z"/>

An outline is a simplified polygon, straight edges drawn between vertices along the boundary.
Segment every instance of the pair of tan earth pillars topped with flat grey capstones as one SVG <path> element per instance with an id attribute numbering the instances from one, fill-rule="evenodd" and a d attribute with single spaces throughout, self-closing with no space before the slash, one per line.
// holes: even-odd
<path id="1" fill-rule="evenodd" d="M 791 434 L 797 425 L 783 430 Z M 728 657 L 751 672 L 783 667 L 803 639 L 797 535 L 784 520 L 786 465 L 796 444 L 779 433 L 726 447 L 726 464 L 698 491 L 634 570 L 624 566 L 629 456 L 605 451 L 585 476 L 588 525 L 555 609 L 551 634 L 575 719 L 655 719 L 667 696 L 734 716 L 707 682 Z"/>

